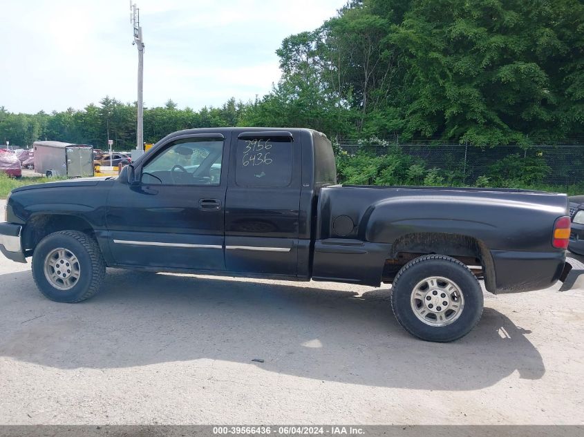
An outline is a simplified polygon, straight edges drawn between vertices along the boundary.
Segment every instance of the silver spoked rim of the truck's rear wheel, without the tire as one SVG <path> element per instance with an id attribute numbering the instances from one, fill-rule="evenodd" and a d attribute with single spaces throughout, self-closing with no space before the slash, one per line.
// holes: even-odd
<path id="1" fill-rule="evenodd" d="M 432 327 L 451 324 L 462 314 L 464 295 L 458 284 L 430 276 L 418 282 L 412 291 L 411 306 L 416 317 Z"/>

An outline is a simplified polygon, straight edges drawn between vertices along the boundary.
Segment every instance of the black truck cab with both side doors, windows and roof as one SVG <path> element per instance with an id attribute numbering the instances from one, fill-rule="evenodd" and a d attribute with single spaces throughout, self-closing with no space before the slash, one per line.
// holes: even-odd
<path id="1" fill-rule="evenodd" d="M 335 157 L 314 130 L 185 130 L 120 182 L 106 208 L 112 264 L 308 280 L 317 192 L 336 183 Z"/>

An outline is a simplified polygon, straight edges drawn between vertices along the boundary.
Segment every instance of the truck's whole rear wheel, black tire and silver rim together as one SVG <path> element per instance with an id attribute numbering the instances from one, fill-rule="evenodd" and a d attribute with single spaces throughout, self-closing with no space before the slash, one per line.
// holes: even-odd
<path id="1" fill-rule="evenodd" d="M 480 320 L 482 289 L 462 262 L 445 255 L 424 255 L 395 276 L 391 307 L 399 324 L 414 336 L 451 342 L 467 335 Z"/>

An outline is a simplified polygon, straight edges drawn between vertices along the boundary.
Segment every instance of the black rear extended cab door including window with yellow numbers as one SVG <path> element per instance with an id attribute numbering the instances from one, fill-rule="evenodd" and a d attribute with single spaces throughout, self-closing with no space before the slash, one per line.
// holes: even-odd
<path id="1" fill-rule="evenodd" d="M 232 138 L 225 202 L 228 271 L 296 275 L 301 141 L 284 130 Z"/>

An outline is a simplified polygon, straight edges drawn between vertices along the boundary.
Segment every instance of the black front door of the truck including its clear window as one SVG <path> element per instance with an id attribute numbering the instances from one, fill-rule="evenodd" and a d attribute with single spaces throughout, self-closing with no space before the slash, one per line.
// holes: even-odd
<path id="1" fill-rule="evenodd" d="M 117 264 L 225 270 L 226 135 L 177 137 L 136 169 L 140 184 L 115 184 L 107 225 Z"/>

